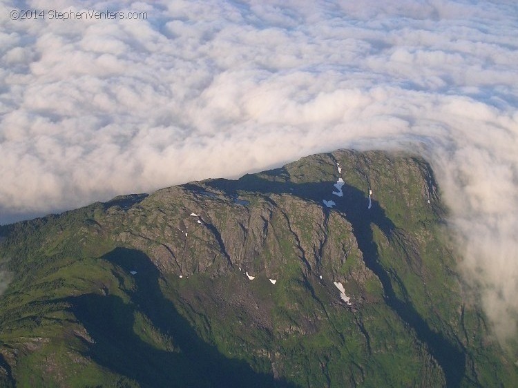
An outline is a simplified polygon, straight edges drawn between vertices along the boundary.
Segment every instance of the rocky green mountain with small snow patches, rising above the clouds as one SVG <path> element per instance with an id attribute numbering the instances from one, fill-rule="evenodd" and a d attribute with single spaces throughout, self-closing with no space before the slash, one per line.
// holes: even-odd
<path id="1" fill-rule="evenodd" d="M 515 386 L 446 213 L 422 159 L 335 151 L 4 226 L 0 385 Z"/>

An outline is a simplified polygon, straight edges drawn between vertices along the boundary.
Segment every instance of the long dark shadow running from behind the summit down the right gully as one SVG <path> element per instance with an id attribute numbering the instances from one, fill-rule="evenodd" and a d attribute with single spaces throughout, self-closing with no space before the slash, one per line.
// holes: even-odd
<path id="1" fill-rule="evenodd" d="M 211 180 L 204 184 L 229 195 L 236 195 L 238 191 L 251 191 L 260 194 L 291 194 L 303 200 L 313 200 L 323 204 L 323 200 L 334 200 L 334 210 L 345 213 L 347 220 L 351 222 L 358 247 L 363 253 L 365 265 L 378 276 L 383 285 L 385 303 L 400 318 L 416 332 L 417 338 L 423 342 L 432 356 L 437 360 L 444 372 L 448 387 L 460 387 L 461 380 L 466 370 L 466 354 L 452 344 L 445 336 L 432 331 L 428 323 L 417 313 L 414 306 L 405 300 L 400 300 L 392 286 L 390 275 L 379 260 L 378 248 L 374 242 L 371 223 L 378 226 L 390 239 L 396 231 L 396 227 L 390 220 L 378 202 L 372 201 L 372 208 L 367 209 L 368 199 L 366 193 L 354 186 L 345 183 L 342 188 L 343 197 L 332 195 L 335 182 L 310 182 L 294 184 L 285 179 L 282 168 L 278 169 L 280 181 L 264 180 L 257 175 L 244 175 L 240 180 Z M 327 210 L 327 208 L 326 208 Z"/>

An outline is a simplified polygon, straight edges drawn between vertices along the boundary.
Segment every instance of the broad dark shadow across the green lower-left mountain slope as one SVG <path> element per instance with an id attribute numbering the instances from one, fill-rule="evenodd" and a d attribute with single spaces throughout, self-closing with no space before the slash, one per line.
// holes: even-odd
<path id="1" fill-rule="evenodd" d="M 295 387 L 286 380 L 253 371 L 244 361 L 223 356 L 204 342 L 160 289 L 160 273 L 147 255 L 117 248 L 104 255 L 134 275 L 131 302 L 117 295 L 87 294 L 67 298 L 72 310 L 95 340 L 85 342 L 88 356 L 99 365 L 136 380 L 142 387 Z M 173 339 L 180 352 L 160 350 L 133 331 L 135 311 Z"/>

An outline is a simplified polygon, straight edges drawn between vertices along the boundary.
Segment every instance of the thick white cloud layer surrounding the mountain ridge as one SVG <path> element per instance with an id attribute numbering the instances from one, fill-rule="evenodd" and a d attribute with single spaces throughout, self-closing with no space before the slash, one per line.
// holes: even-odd
<path id="1" fill-rule="evenodd" d="M 403 148 L 432 164 L 498 338 L 516 334 L 514 0 L 0 1 L 0 224 Z M 106 10 L 147 17 L 55 17 Z"/>

